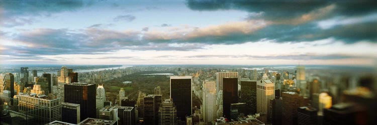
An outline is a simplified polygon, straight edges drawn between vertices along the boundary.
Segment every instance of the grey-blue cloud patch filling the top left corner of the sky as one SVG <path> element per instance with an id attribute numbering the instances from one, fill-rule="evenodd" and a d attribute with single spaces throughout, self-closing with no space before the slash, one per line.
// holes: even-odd
<path id="1" fill-rule="evenodd" d="M 50 16 L 51 13 L 74 11 L 97 1 L 84 0 L 0 0 L 0 25 L 13 27 L 31 24 L 30 16 Z"/>

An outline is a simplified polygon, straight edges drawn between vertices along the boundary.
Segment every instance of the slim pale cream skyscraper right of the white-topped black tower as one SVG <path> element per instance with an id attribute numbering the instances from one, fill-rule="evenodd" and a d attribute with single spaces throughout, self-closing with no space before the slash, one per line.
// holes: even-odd
<path id="1" fill-rule="evenodd" d="M 203 82 L 203 120 L 211 123 L 216 119 L 216 81 Z"/>

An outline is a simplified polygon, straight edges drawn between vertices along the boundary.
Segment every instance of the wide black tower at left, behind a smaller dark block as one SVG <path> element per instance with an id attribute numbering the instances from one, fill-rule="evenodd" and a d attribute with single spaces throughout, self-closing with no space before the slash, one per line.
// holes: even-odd
<path id="1" fill-rule="evenodd" d="M 64 84 L 64 100 L 80 104 L 80 119 L 96 117 L 96 84 Z"/>

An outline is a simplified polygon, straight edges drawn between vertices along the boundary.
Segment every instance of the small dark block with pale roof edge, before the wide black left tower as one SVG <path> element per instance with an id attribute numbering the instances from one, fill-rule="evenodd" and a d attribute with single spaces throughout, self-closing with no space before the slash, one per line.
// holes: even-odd
<path id="1" fill-rule="evenodd" d="M 61 102 L 61 121 L 77 124 L 80 120 L 80 104 Z"/>

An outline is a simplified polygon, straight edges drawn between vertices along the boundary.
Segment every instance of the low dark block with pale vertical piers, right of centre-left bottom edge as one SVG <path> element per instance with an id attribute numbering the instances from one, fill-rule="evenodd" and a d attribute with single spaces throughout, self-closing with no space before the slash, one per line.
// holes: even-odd
<path id="1" fill-rule="evenodd" d="M 118 124 L 135 124 L 135 109 L 127 106 L 114 106 L 114 118 L 117 118 Z"/>

